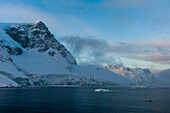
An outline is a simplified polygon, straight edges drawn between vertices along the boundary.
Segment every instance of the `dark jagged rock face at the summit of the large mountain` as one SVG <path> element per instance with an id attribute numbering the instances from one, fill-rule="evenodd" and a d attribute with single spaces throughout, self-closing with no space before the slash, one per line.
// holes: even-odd
<path id="1" fill-rule="evenodd" d="M 57 50 L 66 58 L 68 63 L 77 64 L 71 53 L 55 39 L 54 35 L 50 33 L 46 25 L 41 21 L 35 24 L 13 26 L 5 29 L 5 31 L 23 48 L 37 48 L 38 52 L 45 52 L 50 49 L 48 52 L 50 56 L 54 56 L 56 54 L 55 50 Z M 18 51 L 22 53 L 19 49 Z"/>

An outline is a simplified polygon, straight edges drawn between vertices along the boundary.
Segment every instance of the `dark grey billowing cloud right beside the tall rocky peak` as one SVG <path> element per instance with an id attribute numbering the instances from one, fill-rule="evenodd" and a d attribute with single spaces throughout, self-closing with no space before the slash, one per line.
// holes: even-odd
<path id="1" fill-rule="evenodd" d="M 109 55 L 111 46 L 104 40 L 79 36 L 62 37 L 60 40 L 70 48 L 80 64 L 123 65 L 119 59 Z"/>

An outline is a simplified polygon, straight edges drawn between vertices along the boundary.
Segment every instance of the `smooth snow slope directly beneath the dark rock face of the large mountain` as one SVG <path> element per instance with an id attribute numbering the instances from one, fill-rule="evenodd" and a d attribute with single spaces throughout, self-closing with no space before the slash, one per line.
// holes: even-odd
<path id="1" fill-rule="evenodd" d="M 28 73 L 54 74 L 70 73 L 71 65 L 60 55 L 49 56 L 48 52 L 39 53 L 37 49 L 24 50 L 19 56 L 12 56 L 13 62 Z"/>

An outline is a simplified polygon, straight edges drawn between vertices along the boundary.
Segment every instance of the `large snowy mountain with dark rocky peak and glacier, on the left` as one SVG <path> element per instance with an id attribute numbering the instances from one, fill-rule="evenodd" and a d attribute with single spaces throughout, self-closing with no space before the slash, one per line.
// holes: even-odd
<path id="1" fill-rule="evenodd" d="M 0 23 L 0 74 L 6 86 L 132 84 L 107 69 L 77 65 L 41 21 Z"/>

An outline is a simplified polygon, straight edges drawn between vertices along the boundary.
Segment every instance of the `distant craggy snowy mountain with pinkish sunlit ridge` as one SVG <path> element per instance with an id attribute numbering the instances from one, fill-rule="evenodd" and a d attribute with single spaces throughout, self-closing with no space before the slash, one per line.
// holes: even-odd
<path id="1" fill-rule="evenodd" d="M 112 65 L 104 66 L 104 68 L 127 78 L 134 85 L 154 86 L 156 82 L 155 75 L 152 74 L 149 69 L 129 68 L 129 67 L 112 66 Z"/>

